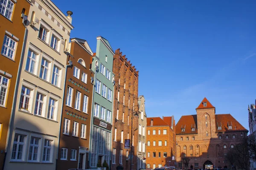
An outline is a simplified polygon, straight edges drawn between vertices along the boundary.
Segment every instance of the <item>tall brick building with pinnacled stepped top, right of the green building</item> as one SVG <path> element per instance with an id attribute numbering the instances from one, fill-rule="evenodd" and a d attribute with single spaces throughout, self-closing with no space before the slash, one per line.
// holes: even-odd
<path id="1" fill-rule="evenodd" d="M 139 125 L 138 117 L 134 114 L 139 111 L 137 106 L 139 71 L 136 71 L 131 62 L 127 61 L 125 55 L 122 55 L 120 49 L 117 49 L 113 60 L 113 73 L 115 74 L 116 83 L 113 100 L 113 157 L 111 169 L 116 169 L 116 166 L 121 164 L 128 170 L 131 163 L 131 169 L 136 169 Z M 131 149 L 124 148 L 125 139 L 131 139 L 132 154 L 134 155 L 132 162 L 128 159 Z"/>

